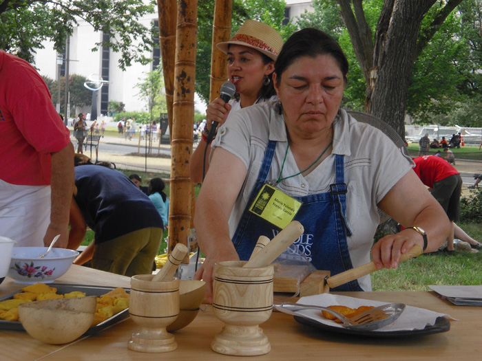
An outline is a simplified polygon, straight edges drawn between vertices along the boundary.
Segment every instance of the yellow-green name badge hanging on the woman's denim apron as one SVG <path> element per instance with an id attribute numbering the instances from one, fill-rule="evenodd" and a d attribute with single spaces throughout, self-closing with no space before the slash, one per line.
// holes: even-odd
<path id="1" fill-rule="evenodd" d="M 293 221 L 301 205 L 300 201 L 281 190 L 264 184 L 249 211 L 283 229 Z"/>

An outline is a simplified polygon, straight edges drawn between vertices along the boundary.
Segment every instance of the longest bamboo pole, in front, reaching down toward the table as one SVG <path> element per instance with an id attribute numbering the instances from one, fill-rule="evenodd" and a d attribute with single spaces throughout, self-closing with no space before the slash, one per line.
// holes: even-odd
<path id="1" fill-rule="evenodd" d="M 192 182 L 189 177 L 189 159 L 193 146 L 197 21 L 198 1 L 179 0 L 172 108 L 169 252 L 174 250 L 177 243 L 187 245 L 191 226 Z M 189 262 L 189 256 L 185 262 Z"/>

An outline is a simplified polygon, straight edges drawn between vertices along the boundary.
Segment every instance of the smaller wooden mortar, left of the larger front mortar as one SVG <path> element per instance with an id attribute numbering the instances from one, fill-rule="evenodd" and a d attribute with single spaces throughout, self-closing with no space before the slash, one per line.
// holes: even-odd
<path id="1" fill-rule="evenodd" d="M 139 352 L 174 351 L 178 344 L 166 327 L 179 315 L 179 279 L 152 282 L 153 274 L 131 278 L 129 315 L 140 331 L 132 333 L 127 347 Z"/>

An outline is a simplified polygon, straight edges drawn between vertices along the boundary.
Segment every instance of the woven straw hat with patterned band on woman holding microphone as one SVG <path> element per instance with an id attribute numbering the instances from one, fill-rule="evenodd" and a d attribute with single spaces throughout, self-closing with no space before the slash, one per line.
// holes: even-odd
<path id="1" fill-rule="evenodd" d="M 259 21 L 247 20 L 231 41 L 218 43 L 216 46 L 227 54 L 230 44 L 252 47 L 275 61 L 283 46 L 283 39 L 271 26 Z"/>

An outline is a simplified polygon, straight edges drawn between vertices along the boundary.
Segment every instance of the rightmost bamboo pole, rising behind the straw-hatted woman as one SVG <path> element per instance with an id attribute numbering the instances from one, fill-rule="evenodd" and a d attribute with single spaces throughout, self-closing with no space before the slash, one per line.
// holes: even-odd
<path id="1" fill-rule="evenodd" d="M 226 55 L 218 50 L 216 44 L 231 39 L 232 10 L 233 0 L 216 0 L 216 3 L 214 4 L 209 102 L 212 102 L 219 96 L 221 85 L 227 80 Z"/>

